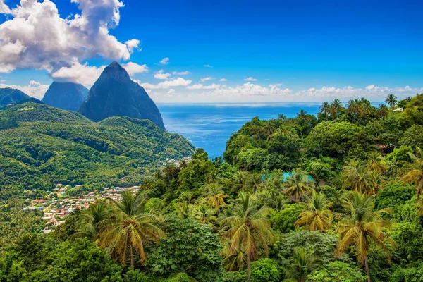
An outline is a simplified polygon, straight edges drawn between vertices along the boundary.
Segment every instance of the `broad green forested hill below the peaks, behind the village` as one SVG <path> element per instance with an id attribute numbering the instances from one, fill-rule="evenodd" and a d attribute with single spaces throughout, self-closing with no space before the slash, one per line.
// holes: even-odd
<path id="1" fill-rule="evenodd" d="M 127 117 L 94 123 L 46 104 L 26 102 L 0 111 L 0 197 L 50 190 L 135 185 L 168 159 L 192 154 L 184 137 L 151 121 Z"/>

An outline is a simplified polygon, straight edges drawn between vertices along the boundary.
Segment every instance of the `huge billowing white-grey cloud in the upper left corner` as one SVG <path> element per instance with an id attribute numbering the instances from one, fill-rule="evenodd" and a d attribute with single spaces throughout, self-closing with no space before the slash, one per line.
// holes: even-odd
<path id="1" fill-rule="evenodd" d="M 21 0 L 9 8 L 0 0 L 8 19 L 0 24 L 0 71 L 36 68 L 51 73 L 75 61 L 101 56 L 128 60 L 140 44 L 137 39 L 119 42 L 109 29 L 121 18 L 119 0 L 71 0 L 80 13 L 61 18 L 50 0 Z"/>

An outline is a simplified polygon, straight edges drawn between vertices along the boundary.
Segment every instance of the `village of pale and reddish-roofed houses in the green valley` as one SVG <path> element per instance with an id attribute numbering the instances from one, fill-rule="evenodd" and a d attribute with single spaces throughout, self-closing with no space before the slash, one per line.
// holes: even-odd
<path id="1" fill-rule="evenodd" d="M 90 207 L 90 204 L 101 199 L 119 200 L 122 191 L 132 190 L 136 194 L 140 187 L 104 188 L 104 190 L 87 192 L 79 196 L 68 195 L 68 190 L 71 188 L 71 185 L 63 186 L 62 184 L 57 184 L 56 188 L 47 191 L 47 197 L 34 200 L 30 207 L 23 208 L 24 210 L 42 209 L 44 214 L 43 219 L 46 221 L 44 233 L 54 231 L 56 226 L 65 222 L 66 215 L 71 214 L 76 209 L 87 209 Z M 80 185 L 76 185 L 75 188 L 80 188 Z"/>

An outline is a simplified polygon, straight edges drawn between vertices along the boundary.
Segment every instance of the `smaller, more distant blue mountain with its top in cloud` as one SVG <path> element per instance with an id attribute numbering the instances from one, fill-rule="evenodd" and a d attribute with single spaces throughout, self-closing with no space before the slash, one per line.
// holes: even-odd
<path id="1" fill-rule="evenodd" d="M 42 102 L 68 111 L 78 111 L 87 99 L 88 90 L 84 85 L 73 82 L 51 83 Z"/>

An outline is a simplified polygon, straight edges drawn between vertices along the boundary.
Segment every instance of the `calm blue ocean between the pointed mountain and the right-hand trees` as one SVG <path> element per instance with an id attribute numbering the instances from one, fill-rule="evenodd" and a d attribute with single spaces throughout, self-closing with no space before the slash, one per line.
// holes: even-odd
<path id="1" fill-rule="evenodd" d="M 209 157 L 219 157 L 226 141 L 255 116 L 293 118 L 300 109 L 317 114 L 321 103 L 157 104 L 166 129 L 185 136 Z"/>

